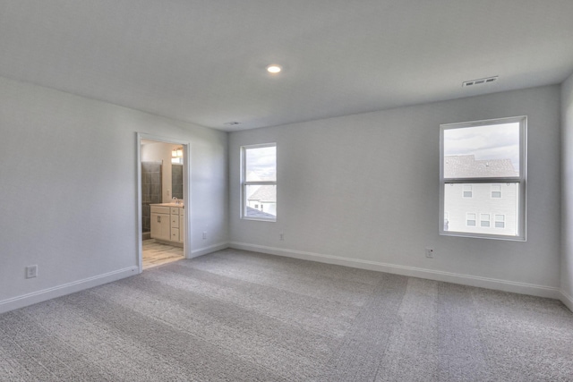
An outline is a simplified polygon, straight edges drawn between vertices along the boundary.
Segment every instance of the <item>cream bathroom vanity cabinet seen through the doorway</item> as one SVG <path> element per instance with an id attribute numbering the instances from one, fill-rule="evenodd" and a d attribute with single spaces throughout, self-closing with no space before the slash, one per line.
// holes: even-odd
<path id="1" fill-rule="evenodd" d="M 151 239 L 183 245 L 185 237 L 184 204 L 151 204 Z"/>

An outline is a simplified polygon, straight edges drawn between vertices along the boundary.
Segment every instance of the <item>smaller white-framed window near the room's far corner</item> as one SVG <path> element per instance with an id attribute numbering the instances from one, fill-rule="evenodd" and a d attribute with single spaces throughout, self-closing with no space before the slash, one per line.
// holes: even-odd
<path id="1" fill-rule="evenodd" d="M 277 221 L 277 144 L 241 148 L 241 217 Z"/>

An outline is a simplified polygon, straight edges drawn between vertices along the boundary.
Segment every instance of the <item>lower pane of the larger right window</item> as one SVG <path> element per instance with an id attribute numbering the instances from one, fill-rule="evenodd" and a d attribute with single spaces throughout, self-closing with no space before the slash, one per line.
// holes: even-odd
<path id="1" fill-rule="evenodd" d="M 467 186 L 471 186 L 472 198 L 463 196 Z M 503 198 L 492 199 L 492 183 L 444 184 L 444 216 L 448 216 L 444 220 L 444 231 L 517 236 L 519 183 L 503 183 L 500 189 Z"/>

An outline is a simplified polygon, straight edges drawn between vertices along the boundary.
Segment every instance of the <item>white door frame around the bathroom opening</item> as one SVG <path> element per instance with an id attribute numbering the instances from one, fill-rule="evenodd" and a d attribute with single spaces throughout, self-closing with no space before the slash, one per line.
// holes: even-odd
<path id="1" fill-rule="evenodd" d="M 146 132 L 136 132 L 136 163 L 137 163 L 137 181 L 136 181 L 136 191 L 137 191 L 137 216 L 136 216 L 136 237 L 137 237 L 137 266 L 139 267 L 139 273 L 143 272 L 143 233 L 141 232 L 141 140 L 155 140 L 160 143 L 168 143 L 172 145 L 183 146 L 183 199 L 184 199 L 184 219 L 185 219 L 185 230 L 184 230 L 184 242 L 183 242 L 183 254 L 184 259 L 191 259 L 191 153 L 190 147 L 191 143 L 185 140 L 179 140 L 176 138 L 163 137 L 160 135 L 148 134 Z"/>

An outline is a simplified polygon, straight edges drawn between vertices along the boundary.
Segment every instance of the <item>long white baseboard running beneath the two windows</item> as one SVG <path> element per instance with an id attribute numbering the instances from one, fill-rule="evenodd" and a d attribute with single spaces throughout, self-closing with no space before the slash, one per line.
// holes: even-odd
<path id="1" fill-rule="evenodd" d="M 490 277 L 462 275 L 451 272 L 442 272 L 433 269 L 426 269 L 420 267 L 406 267 L 397 264 L 382 263 L 363 259 L 348 259 L 339 256 L 305 252 L 302 250 L 287 250 L 284 248 L 267 247 L 263 245 L 250 244 L 246 242 L 229 242 L 229 247 L 237 250 L 253 250 L 253 251 L 268 253 L 270 255 L 285 256 L 288 258 L 312 260 L 327 264 L 336 264 L 346 267 L 356 267 L 367 270 L 375 270 L 395 275 L 413 276 L 413 277 L 426 278 L 429 280 L 443 281 L 453 284 L 477 286 L 480 288 L 494 289 L 503 292 L 530 294 L 533 296 L 547 297 L 557 300 L 561 300 L 561 295 L 563 294 L 562 292 L 560 292 L 559 288 L 555 288 L 552 286 L 517 283 L 514 281 L 500 280 Z"/>

